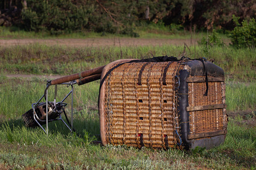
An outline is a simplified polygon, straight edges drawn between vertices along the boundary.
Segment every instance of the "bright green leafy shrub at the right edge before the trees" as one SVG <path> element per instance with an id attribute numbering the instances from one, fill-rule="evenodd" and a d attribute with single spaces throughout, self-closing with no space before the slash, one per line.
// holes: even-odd
<path id="1" fill-rule="evenodd" d="M 238 22 L 240 17 L 233 15 L 233 21 L 236 24 L 234 30 L 229 34 L 232 45 L 236 48 L 255 48 L 256 42 L 256 23 L 255 19 L 243 20 L 242 24 Z"/>

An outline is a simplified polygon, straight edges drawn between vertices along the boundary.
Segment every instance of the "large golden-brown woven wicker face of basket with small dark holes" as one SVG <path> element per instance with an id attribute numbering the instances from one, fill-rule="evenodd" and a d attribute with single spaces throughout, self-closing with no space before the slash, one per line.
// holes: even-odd
<path id="1" fill-rule="evenodd" d="M 113 145 L 173 147 L 174 73 L 178 62 L 125 63 L 106 78 L 106 141 Z M 141 84 L 139 84 L 139 73 Z M 143 138 L 142 138 L 143 137 Z M 143 142 L 141 141 L 143 140 Z"/>

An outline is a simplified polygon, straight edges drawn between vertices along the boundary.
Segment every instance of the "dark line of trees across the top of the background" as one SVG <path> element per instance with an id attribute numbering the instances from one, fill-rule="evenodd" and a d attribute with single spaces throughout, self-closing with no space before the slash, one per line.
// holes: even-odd
<path id="1" fill-rule="evenodd" d="M 249 0 L 3 0 L 0 25 L 52 34 L 81 31 L 137 36 L 134 26 L 161 23 L 192 29 L 234 28 L 232 15 L 255 18 L 256 4 Z"/>

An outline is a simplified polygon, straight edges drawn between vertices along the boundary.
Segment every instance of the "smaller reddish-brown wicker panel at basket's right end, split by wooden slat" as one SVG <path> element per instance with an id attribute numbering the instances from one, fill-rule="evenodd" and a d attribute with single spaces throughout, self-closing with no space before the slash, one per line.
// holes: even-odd
<path id="1" fill-rule="evenodd" d="M 205 83 L 188 83 L 189 106 L 222 104 L 221 82 L 209 82 L 208 96 Z M 189 112 L 190 134 L 223 130 L 223 109 Z"/>

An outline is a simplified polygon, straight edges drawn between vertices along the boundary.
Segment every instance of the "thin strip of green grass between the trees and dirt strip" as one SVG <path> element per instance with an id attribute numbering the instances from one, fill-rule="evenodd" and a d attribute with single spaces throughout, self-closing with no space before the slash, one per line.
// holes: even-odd
<path id="1" fill-rule="evenodd" d="M 135 27 L 134 31 L 143 39 L 201 39 L 207 36 L 205 32 L 190 33 L 183 28 L 165 27 L 162 24 L 144 24 Z M 224 34 L 220 34 L 222 39 L 228 39 Z M 119 35 L 102 32 L 79 31 L 64 35 L 51 35 L 49 32 L 24 31 L 18 27 L 0 27 L 1 39 L 86 39 L 99 37 L 130 37 L 129 35 Z"/>

